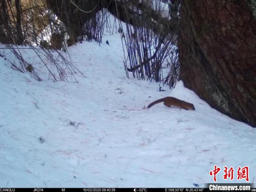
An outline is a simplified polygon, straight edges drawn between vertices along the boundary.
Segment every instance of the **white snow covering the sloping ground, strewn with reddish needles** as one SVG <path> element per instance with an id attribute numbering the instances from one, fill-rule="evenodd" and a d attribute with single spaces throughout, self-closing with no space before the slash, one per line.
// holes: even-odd
<path id="1" fill-rule="evenodd" d="M 29 49 L 20 51 L 38 63 L 41 82 L 0 57 L 0 187 L 204 187 L 214 165 L 218 183 L 244 183 L 238 166 L 249 166 L 256 181 L 255 128 L 212 109 L 181 81 L 159 92 L 159 83 L 127 79 L 120 34 L 105 30 L 106 40 L 68 48 L 84 74 L 79 83 L 53 82 Z M 144 108 L 166 96 L 196 110 Z M 223 166 L 234 167 L 233 181 L 223 180 Z"/>

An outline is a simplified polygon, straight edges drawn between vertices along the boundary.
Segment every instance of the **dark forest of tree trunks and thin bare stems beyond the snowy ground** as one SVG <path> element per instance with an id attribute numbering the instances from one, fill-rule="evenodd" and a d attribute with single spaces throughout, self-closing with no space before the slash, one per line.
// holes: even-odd
<path id="1" fill-rule="evenodd" d="M 2 49 L 18 58 L 12 68 L 37 80 L 20 48 L 43 53 L 59 72 L 61 78 L 52 74 L 54 80 L 68 81 L 53 52 L 61 57 L 82 41 L 100 45 L 105 27 L 120 34 L 127 52 L 120 65 L 128 78 L 170 87 L 181 79 L 212 108 L 256 127 L 256 1 L 0 0 Z M 75 77 L 79 69 L 61 59 Z"/>

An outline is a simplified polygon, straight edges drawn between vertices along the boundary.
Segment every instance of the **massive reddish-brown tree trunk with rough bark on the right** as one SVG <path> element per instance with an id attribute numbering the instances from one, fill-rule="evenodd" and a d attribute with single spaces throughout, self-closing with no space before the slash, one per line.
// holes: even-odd
<path id="1" fill-rule="evenodd" d="M 256 127 L 256 10 L 250 0 L 181 0 L 181 80 L 213 108 Z"/>

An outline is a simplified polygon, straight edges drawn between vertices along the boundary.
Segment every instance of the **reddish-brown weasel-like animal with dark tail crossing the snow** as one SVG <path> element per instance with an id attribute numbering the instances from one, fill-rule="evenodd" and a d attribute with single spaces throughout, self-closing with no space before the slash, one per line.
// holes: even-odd
<path id="1" fill-rule="evenodd" d="M 157 104 L 157 103 L 161 103 L 163 102 L 163 105 L 170 107 L 170 106 L 177 106 L 181 109 L 185 109 L 185 110 L 195 110 L 195 107 L 192 103 L 188 103 L 185 101 L 182 101 L 180 99 L 177 99 L 175 97 L 165 97 L 162 99 L 158 99 L 152 103 L 150 103 L 147 108 L 151 108 L 153 105 Z"/>

